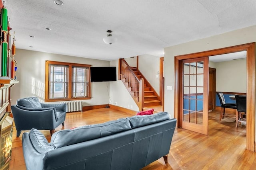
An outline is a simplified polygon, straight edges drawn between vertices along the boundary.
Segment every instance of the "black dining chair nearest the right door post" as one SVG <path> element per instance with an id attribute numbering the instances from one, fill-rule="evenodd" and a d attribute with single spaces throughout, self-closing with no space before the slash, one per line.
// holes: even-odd
<path id="1" fill-rule="evenodd" d="M 238 127 L 238 122 L 244 122 L 246 124 L 246 96 L 245 95 L 237 95 L 236 98 L 236 111 L 238 112 L 238 116 L 236 117 L 236 127 Z"/>

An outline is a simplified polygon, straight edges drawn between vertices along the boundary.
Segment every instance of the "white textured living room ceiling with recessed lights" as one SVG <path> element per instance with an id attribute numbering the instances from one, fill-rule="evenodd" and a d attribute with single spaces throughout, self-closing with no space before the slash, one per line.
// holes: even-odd
<path id="1" fill-rule="evenodd" d="M 112 61 L 162 56 L 164 47 L 256 25 L 256 0 L 62 2 L 6 0 L 16 48 Z M 112 45 L 102 40 L 108 29 Z"/>

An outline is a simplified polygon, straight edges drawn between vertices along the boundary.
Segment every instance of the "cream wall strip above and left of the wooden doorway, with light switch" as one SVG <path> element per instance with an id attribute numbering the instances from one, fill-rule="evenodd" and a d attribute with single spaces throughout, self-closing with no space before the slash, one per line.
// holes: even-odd
<path id="1" fill-rule="evenodd" d="M 164 48 L 164 111 L 174 117 L 174 90 L 166 90 L 166 86 L 174 86 L 174 56 L 212 49 L 220 49 L 256 41 L 256 25 L 199 39 L 188 43 Z"/>

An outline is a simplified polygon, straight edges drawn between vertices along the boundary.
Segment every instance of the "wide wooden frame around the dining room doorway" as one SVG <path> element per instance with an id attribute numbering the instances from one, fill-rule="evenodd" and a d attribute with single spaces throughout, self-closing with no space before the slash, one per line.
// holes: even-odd
<path id="1" fill-rule="evenodd" d="M 174 92 L 174 117 L 177 119 L 176 127 L 181 127 L 180 110 L 180 92 L 179 79 L 180 62 L 184 59 L 192 59 L 205 56 L 220 55 L 226 53 L 234 53 L 239 51 L 247 51 L 246 59 L 246 73 L 247 73 L 247 123 L 246 123 L 246 149 L 255 152 L 255 42 L 243 45 L 236 45 L 232 47 L 225 47 L 221 49 L 214 49 L 210 51 L 203 51 L 199 53 L 192 53 L 186 55 L 179 55 L 174 57 L 175 69 L 175 92 Z"/>

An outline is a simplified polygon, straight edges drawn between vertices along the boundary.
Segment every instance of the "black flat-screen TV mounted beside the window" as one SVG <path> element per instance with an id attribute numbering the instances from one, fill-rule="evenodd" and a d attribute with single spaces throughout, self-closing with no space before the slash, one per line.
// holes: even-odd
<path id="1" fill-rule="evenodd" d="M 116 81 L 116 67 L 90 67 L 91 82 Z"/>

